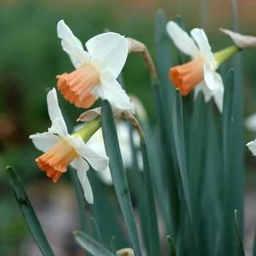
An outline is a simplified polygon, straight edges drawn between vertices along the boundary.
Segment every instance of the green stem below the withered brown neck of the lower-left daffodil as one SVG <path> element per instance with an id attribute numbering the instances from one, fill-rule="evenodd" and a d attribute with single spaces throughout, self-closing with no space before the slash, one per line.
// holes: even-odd
<path id="1" fill-rule="evenodd" d="M 146 202 L 147 202 L 147 219 L 148 219 L 148 242 L 149 252 L 148 255 L 161 255 L 157 208 L 154 201 L 154 186 L 151 176 L 151 168 L 148 162 L 148 152 L 145 140 L 140 141 L 140 148 L 143 155 L 143 170 L 144 181 L 146 189 Z"/>

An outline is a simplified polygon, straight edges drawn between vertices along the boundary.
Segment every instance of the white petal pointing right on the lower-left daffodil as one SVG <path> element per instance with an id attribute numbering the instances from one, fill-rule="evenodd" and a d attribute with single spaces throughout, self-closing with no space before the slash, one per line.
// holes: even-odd
<path id="1" fill-rule="evenodd" d="M 79 148 L 75 148 L 81 157 L 94 168 L 94 170 L 104 170 L 108 166 L 109 158 L 92 150 L 88 145 L 83 144 Z"/>

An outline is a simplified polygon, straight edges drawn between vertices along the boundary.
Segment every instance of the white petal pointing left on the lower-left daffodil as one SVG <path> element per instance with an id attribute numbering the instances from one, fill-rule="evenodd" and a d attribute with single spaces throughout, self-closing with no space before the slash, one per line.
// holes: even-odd
<path id="1" fill-rule="evenodd" d="M 29 138 L 33 141 L 34 146 L 43 152 L 48 151 L 61 140 L 59 136 L 53 135 L 50 132 L 37 133 L 30 135 Z"/>

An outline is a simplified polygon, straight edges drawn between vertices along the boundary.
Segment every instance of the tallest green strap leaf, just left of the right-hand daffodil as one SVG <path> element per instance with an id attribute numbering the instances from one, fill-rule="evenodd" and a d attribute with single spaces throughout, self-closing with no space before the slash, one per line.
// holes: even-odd
<path id="1" fill-rule="evenodd" d="M 171 107 L 173 101 L 173 83 L 170 81 L 170 67 L 173 67 L 173 54 L 170 49 L 170 37 L 166 31 L 167 20 L 165 13 L 158 10 L 155 20 L 155 42 L 157 51 L 157 73 L 159 83 L 152 83 L 154 101 L 157 112 L 157 125 L 159 136 L 160 169 L 157 173 L 152 170 L 152 175 L 157 176 L 154 182 L 158 193 L 159 204 L 165 219 L 166 230 L 176 240 L 179 222 L 179 202 L 177 184 L 177 159 L 173 139 L 173 124 Z M 159 176 L 159 172 L 162 175 Z M 161 180 L 162 178 L 162 180 Z M 166 194 L 167 200 L 161 195 Z M 166 202 L 167 201 L 167 202 Z"/>

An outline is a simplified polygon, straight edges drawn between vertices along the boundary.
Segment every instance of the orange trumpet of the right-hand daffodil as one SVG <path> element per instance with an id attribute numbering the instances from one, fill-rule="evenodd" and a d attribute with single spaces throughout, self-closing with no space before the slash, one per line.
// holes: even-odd
<path id="1" fill-rule="evenodd" d="M 181 90 L 181 94 L 187 96 L 203 80 L 203 58 L 172 67 L 169 76 L 174 86 Z"/>

